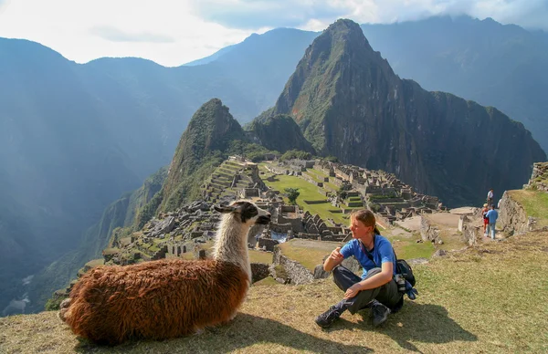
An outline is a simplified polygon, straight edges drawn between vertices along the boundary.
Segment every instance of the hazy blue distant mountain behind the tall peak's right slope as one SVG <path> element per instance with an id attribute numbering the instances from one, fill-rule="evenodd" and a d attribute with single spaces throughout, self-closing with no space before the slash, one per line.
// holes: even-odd
<path id="1" fill-rule="evenodd" d="M 548 34 L 469 16 L 362 29 L 400 77 L 501 109 L 548 151 Z"/>

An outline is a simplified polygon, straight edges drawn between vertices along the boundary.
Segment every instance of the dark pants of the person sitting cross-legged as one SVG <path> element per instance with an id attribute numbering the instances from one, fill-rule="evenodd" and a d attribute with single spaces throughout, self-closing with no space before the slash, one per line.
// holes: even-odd
<path id="1" fill-rule="evenodd" d="M 373 268 L 367 272 L 365 279 L 374 276 L 375 274 L 379 274 L 381 271 L 381 268 Z M 337 265 L 333 269 L 333 281 L 342 291 L 346 291 L 350 286 L 353 286 L 362 280 L 361 277 L 356 276 L 350 269 L 345 268 L 342 265 Z M 395 280 L 392 279 L 384 286 L 362 290 L 355 297 L 347 299 L 347 309 L 351 314 L 355 314 L 362 308 L 367 307 L 374 299 L 395 312 L 403 305 L 404 297 L 403 294 L 397 290 L 397 284 L 395 284 Z"/>

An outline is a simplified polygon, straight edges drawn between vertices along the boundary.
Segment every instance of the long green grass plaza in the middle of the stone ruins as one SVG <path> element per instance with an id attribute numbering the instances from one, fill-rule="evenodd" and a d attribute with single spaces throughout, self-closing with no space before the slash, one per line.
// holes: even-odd
<path id="1" fill-rule="evenodd" d="M 318 201 L 318 200 L 325 200 L 325 195 L 321 195 L 321 193 L 318 193 L 318 187 L 304 181 L 303 179 L 295 176 L 286 176 L 286 175 L 279 175 L 276 176 L 278 179 L 277 182 L 269 182 L 266 181 L 265 183 L 272 187 L 275 190 L 278 190 L 281 193 L 284 193 L 284 190 L 286 188 L 299 188 L 300 195 L 297 198 L 297 204 L 299 204 L 300 208 L 304 211 L 308 211 L 312 214 L 317 213 L 321 216 L 321 219 L 323 219 L 325 222 L 327 222 L 328 218 L 332 218 L 336 223 L 342 223 L 347 224 L 348 221 L 344 219 L 342 216 L 342 213 L 331 213 L 330 209 L 336 209 L 332 206 L 331 203 L 321 203 L 321 204 L 307 204 L 304 203 L 305 200 L 310 201 Z"/>

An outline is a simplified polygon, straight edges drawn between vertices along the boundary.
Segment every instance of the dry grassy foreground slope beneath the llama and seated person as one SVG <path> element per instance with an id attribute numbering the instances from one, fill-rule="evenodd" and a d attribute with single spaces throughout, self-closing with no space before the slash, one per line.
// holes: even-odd
<path id="1" fill-rule="evenodd" d="M 381 328 L 344 313 L 328 330 L 313 319 L 342 292 L 331 279 L 252 286 L 237 318 L 200 335 L 115 348 L 79 340 L 54 312 L 0 318 L 2 353 L 516 353 L 548 350 L 548 233 L 416 265 L 420 296 Z"/>

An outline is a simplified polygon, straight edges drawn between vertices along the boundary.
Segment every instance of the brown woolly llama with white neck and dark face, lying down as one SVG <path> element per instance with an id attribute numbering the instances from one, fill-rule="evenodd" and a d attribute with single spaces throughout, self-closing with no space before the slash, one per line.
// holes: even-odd
<path id="1" fill-rule="evenodd" d="M 269 224 L 253 203 L 216 206 L 223 213 L 213 259 L 157 260 L 90 269 L 61 303 L 59 318 L 99 344 L 195 333 L 236 317 L 251 283 L 248 230 Z"/>

